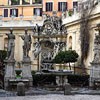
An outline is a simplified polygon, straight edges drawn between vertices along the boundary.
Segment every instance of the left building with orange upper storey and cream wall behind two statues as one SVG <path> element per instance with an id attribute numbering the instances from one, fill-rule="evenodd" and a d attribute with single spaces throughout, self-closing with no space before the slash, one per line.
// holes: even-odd
<path id="1" fill-rule="evenodd" d="M 17 62 L 22 60 L 23 41 L 21 35 L 28 33 L 33 34 L 33 27 L 38 24 L 42 25 L 42 3 L 41 0 L 1 0 L 0 1 L 0 50 L 7 50 L 7 35 L 13 30 L 15 35 L 15 59 Z M 34 39 L 32 38 L 34 42 Z M 33 50 L 33 44 L 31 51 Z M 32 57 L 32 52 L 29 54 Z M 32 60 L 33 58 L 31 58 Z M 17 65 L 16 65 L 17 66 Z M 33 66 L 33 63 L 32 63 Z M 34 69 L 34 67 L 32 67 Z M 36 67 L 35 67 L 36 69 Z"/>

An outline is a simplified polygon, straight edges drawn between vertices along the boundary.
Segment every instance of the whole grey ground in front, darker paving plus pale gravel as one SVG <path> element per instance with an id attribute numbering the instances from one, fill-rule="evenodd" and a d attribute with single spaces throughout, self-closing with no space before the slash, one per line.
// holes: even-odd
<path id="1" fill-rule="evenodd" d="M 71 95 L 64 91 L 48 91 L 32 88 L 25 96 L 17 96 L 16 92 L 0 90 L 0 100 L 100 100 L 100 89 L 74 88 Z"/>

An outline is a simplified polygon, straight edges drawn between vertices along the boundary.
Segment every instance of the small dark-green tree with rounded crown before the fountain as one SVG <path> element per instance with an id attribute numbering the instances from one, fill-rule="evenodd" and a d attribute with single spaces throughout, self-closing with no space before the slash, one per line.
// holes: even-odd
<path id="1" fill-rule="evenodd" d="M 54 58 L 53 62 L 58 64 L 69 63 L 69 67 L 71 70 L 70 63 L 76 62 L 78 58 L 78 54 L 75 50 L 68 50 L 68 51 L 60 51 Z"/>

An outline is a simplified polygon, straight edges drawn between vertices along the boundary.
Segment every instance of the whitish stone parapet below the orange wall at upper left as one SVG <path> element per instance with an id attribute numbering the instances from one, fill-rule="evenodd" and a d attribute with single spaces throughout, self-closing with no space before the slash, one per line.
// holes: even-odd
<path id="1" fill-rule="evenodd" d="M 43 18 L 40 16 L 22 16 L 22 17 L 0 17 L 0 27 L 21 27 L 35 26 L 36 23 L 43 23 Z"/>

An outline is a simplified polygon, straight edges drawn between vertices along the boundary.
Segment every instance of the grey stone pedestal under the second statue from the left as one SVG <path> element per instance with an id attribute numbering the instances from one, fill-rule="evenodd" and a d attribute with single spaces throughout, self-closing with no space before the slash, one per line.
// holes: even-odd
<path id="1" fill-rule="evenodd" d="M 33 86 L 33 78 L 31 74 L 31 61 L 30 58 L 24 58 L 22 61 L 22 79 L 29 80 L 29 86 Z"/>

